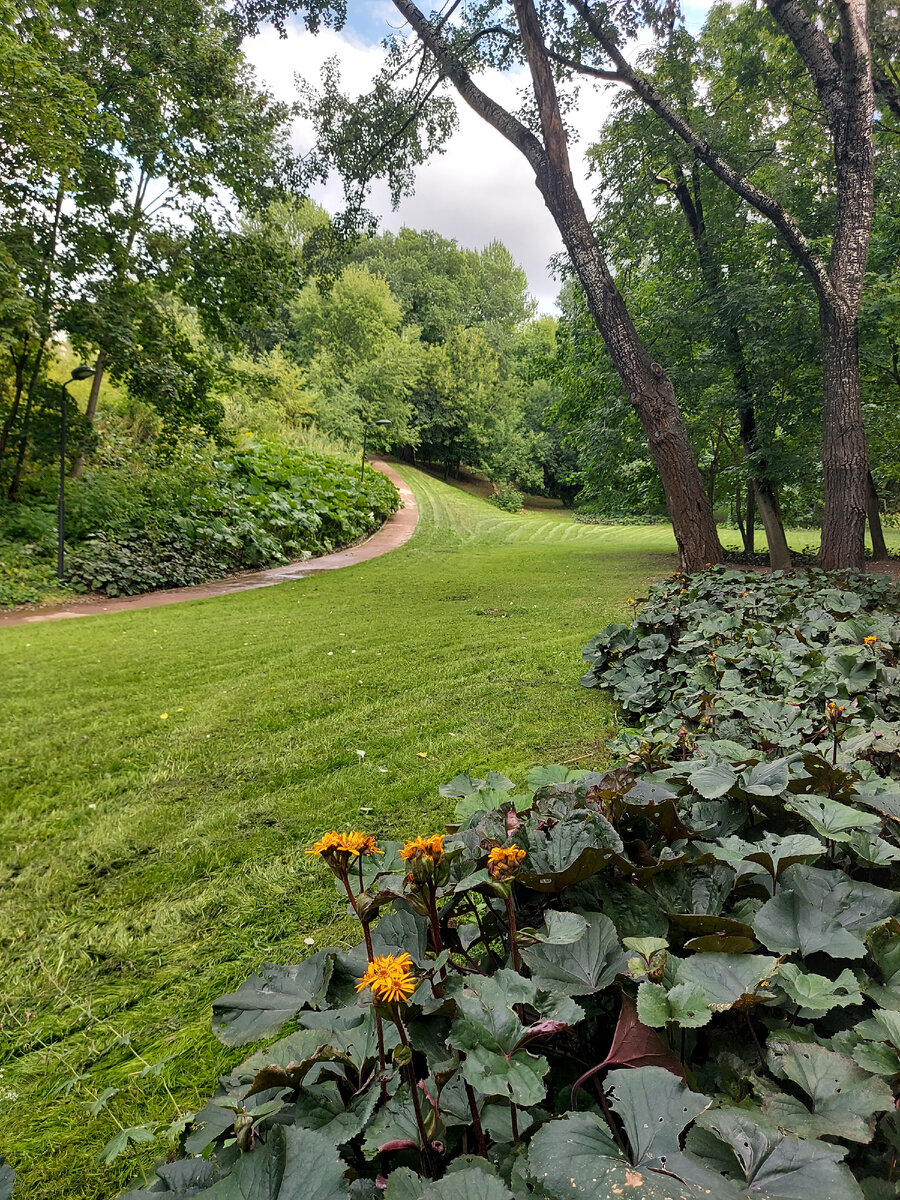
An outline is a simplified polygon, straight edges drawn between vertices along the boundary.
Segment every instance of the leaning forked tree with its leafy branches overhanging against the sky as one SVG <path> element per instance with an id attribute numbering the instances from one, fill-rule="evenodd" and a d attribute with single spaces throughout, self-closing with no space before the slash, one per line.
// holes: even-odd
<path id="1" fill-rule="evenodd" d="M 482 18 L 492 16 L 496 5 L 475 6 L 473 19 L 478 28 L 474 32 L 464 22 L 460 25 L 450 22 L 457 4 L 445 14 L 431 17 L 412 0 L 394 0 L 394 5 L 413 30 L 414 53 L 410 55 L 409 47 L 397 42 L 372 94 L 358 104 L 341 96 L 334 73 L 325 79 L 323 95 L 311 104 L 319 119 L 322 162 L 342 168 L 354 184 L 356 199 L 360 185 L 365 188 L 379 173 L 388 175 L 395 192 L 408 186 L 410 163 L 421 161 L 428 148 L 446 133 L 446 109 L 434 100 L 444 83 L 452 85 L 482 120 L 524 156 L 562 234 L 629 401 L 646 431 L 666 492 L 682 562 L 688 569 L 719 562 L 721 547 L 712 505 L 674 389 L 635 330 L 575 187 L 545 30 L 533 0 L 514 0 L 515 24 L 509 31 L 530 74 L 530 98 L 538 114 L 538 120 L 530 125 L 492 100 L 473 78 L 470 68 L 478 67 L 478 44 L 486 32 Z M 296 11 L 312 28 L 322 20 L 340 25 L 344 7 L 323 0 L 287 0 L 284 4 L 251 0 L 245 12 L 252 22 L 269 16 L 283 20 L 288 12 Z M 412 83 L 403 80 L 410 61 Z"/>

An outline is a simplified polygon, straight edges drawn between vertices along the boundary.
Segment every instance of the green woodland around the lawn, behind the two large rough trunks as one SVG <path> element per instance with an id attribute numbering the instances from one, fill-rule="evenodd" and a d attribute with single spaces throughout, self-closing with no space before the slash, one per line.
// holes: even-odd
<path id="1" fill-rule="evenodd" d="M 300 5 L 311 28 L 340 20 L 340 7 Z M 568 59 L 558 48 L 589 25 L 553 26 L 553 6 L 539 7 L 560 80 L 577 60 L 610 86 L 583 46 Z M 476 25 L 481 58 L 463 44 L 461 61 L 502 66 L 506 8 L 464 6 L 432 25 L 457 42 Z M 286 557 L 300 544 L 299 512 L 281 510 L 296 455 L 308 466 L 311 454 L 355 454 L 365 432 L 373 449 L 446 475 L 484 474 L 514 509 L 527 491 L 596 518 L 662 518 L 646 425 L 568 260 L 558 316 L 538 316 L 499 242 L 379 234 L 366 212 L 372 178 L 400 197 L 445 139 L 448 102 L 397 82 L 395 43 L 368 124 L 334 64 L 295 106 L 277 103 L 241 49 L 258 19 L 200 0 L 164 2 L 151 19 L 122 0 L 0 11 L 0 604 L 52 587 L 60 385 L 77 361 L 96 367 L 68 407 L 67 534 L 82 586 L 133 590 L 191 582 L 198 558 L 211 574 Z M 749 5 L 714 6 L 697 35 L 673 13 L 617 19 L 623 44 L 653 34 L 641 78 L 827 256 L 839 172 L 782 24 Z M 880 100 L 858 343 L 876 556 L 900 506 L 896 24 L 895 10 L 871 8 Z M 618 84 L 616 96 L 589 155 L 594 235 L 672 382 L 704 496 L 751 553 L 761 497 L 779 524 L 815 529 L 823 515 L 816 290 L 796 247 L 646 96 Z M 540 127 L 540 107 L 524 98 L 523 128 Z M 304 160 L 290 149 L 298 114 L 320 136 Z M 348 205 L 328 214 L 305 196 L 335 166 Z M 260 514 L 253 497 L 274 488 L 287 490 L 280 511 Z"/>

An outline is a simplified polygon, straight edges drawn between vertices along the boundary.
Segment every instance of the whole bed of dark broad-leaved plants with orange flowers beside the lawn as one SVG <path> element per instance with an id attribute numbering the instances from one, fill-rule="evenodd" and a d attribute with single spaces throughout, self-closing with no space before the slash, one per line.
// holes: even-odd
<path id="1" fill-rule="evenodd" d="M 656 673 L 648 734 L 521 793 L 460 775 L 445 834 L 325 834 L 359 946 L 215 1001 L 257 1049 L 130 1200 L 896 1195 L 893 590 L 714 572 L 632 608 L 589 653 Z"/>

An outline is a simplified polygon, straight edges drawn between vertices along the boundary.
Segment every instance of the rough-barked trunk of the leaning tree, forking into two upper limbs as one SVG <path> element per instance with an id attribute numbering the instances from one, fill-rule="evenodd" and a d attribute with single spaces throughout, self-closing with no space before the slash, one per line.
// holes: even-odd
<path id="1" fill-rule="evenodd" d="M 442 73 L 466 103 L 520 150 L 557 223 L 588 307 L 649 442 L 672 520 L 682 565 L 698 570 L 721 560 L 713 510 L 703 491 L 674 389 L 641 341 L 578 198 L 569 164 L 565 130 L 540 22 L 532 0 L 514 0 L 532 73 L 542 142 L 475 85 L 440 31 L 410 0 L 394 0 Z"/>

